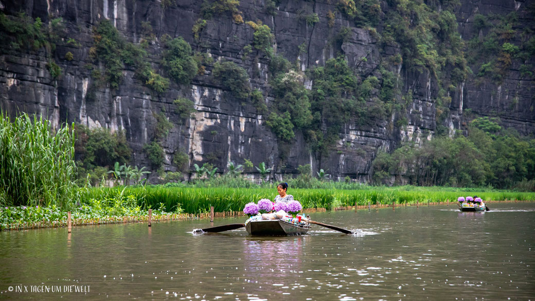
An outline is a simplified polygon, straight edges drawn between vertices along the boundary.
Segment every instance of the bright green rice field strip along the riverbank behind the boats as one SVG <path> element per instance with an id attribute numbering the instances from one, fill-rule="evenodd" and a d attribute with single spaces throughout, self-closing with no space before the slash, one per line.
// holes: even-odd
<path id="1" fill-rule="evenodd" d="M 293 189 L 288 193 L 299 200 L 303 208 L 326 208 L 345 206 L 415 204 L 423 202 L 456 201 L 458 197 L 477 195 L 485 201 L 496 200 L 535 200 L 533 192 L 510 191 L 461 191 L 443 187 L 376 187 L 361 186 L 365 189 Z M 138 186 L 116 188 L 94 188 L 87 191 L 86 198 L 110 199 L 117 194 L 133 195 L 137 204 L 145 208 L 161 208 L 171 212 L 177 208 L 184 213 L 197 214 L 209 212 L 213 206 L 215 212 L 241 211 L 248 202 L 271 199 L 277 195 L 274 188 L 227 188 L 227 187 L 161 187 Z"/>

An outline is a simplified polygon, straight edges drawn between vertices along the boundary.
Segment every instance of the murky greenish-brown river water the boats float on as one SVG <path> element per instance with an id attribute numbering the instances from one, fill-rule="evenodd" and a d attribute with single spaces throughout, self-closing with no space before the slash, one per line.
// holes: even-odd
<path id="1" fill-rule="evenodd" d="M 311 214 L 356 235 L 192 234 L 208 220 L 0 232 L 0 299 L 535 300 L 535 204 L 489 205 Z"/>

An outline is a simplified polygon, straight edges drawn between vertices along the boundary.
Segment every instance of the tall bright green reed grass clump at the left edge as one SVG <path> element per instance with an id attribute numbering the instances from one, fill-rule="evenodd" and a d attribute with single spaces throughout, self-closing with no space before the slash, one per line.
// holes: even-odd
<path id="1" fill-rule="evenodd" d="M 11 120 L 0 111 L 0 205 L 57 205 L 78 198 L 73 182 L 74 131 L 26 114 Z"/>

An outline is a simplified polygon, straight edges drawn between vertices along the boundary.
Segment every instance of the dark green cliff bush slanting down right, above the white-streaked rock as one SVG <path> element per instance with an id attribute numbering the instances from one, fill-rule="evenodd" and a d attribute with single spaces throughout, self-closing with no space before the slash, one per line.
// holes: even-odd
<path id="1" fill-rule="evenodd" d="M 228 88 L 238 99 L 247 99 L 249 96 L 249 76 L 247 71 L 234 62 L 217 62 L 213 65 L 213 77 L 221 85 Z"/>

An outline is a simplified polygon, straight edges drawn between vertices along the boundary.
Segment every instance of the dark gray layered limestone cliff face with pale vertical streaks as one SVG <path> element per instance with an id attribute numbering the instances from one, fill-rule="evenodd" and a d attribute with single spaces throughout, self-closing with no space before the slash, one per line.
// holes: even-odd
<path id="1" fill-rule="evenodd" d="M 328 156 L 319 157 L 310 151 L 303 134 L 296 133 L 295 141 L 282 160 L 281 144 L 265 125 L 265 116 L 258 114 L 248 101 L 235 99 L 226 87 L 210 76 L 197 76 L 191 85 L 171 84 L 164 94 L 150 91 L 134 77 L 133 70 L 125 69 L 117 89 L 98 87 L 85 68 L 91 63 L 89 48 L 93 46 L 92 27 L 102 19 L 109 19 L 129 42 L 142 39 L 142 22 L 149 22 L 157 37 L 168 34 L 182 36 L 195 50 L 221 61 L 233 61 L 250 76 L 250 84 L 261 89 L 266 103 L 272 101 L 268 85 L 268 58 L 254 51 L 242 57 L 243 48 L 253 42 L 253 29 L 246 24 L 236 24 L 230 12 L 215 15 L 208 20 L 195 41 L 192 26 L 200 17 L 200 1 L 179 0 L 175 6 L 162 7 L 159 1 L 126 0 L 27 0 L 2 1 L 0 10 L 6 14 L 25 11 L 43 22 L 62 17 L 67 37 L 80 46 L 58 43 L 55 61 L 62 68 L 62 76 L 53 79 L 47 69 L 47 54 L 43 50 L 12 50 L 0 45 L 0 104 L 2 110 L 16 115 L 18 111 L 37 113 L 59 125 L 75 122 L 89 127 L 106 127 L 112 131 L 124 129 L 134 151 L 135 165 L 148 165 L 143 153 L 144 144 L 154 139 L 155 114 L 164 112 L 173 129 L 163 142 L 165 170 L 174 171 L 173 155 L 186 152 L 189 165 L 210 162 L 219 171 L 226 170 L 228 162 L 243 163 L 251 160 L 255 165 L 265 162 L 273 168 L 277 178 L 282 174 L 296 174 L 299 165 L 311 164 L 313 173 L 323 168 L 333 178 L 349 176 L 360 182 L 369 180 L 371 162 L 379 149 L 390 151 L 403 141 L 421 142 L 430 139 L 437 126 L 435 99 L 437 82 L 428 72 L 410 72 L 406 66 L 392 66 L 390 71 L 400 76 L 402 93 L 412 91 L 412 103 L 407 116 L 395 114 L 387 120 L 377 120 L 366 125 L 350 122 L 343 126 L 340 140 Z M 476 12 L 504 14 L 518 11 L 525 24 L 533 24 L 533 15 L 522 1 L 462 1 L 457 14 L 459 31 L 464 39 L 471 35 L 471 18 Z M 278 54 L 289 61 L 299 59 L 301 70 L 322 66 L 329 58 L 342 53 L 348 65 L 361 80 L 373 75 L 381 77 L 378 66 L 389 56 L 400 53 L 395 46 L 382 48 L 368 29 L 357 28 L 353 22 L 337 13 L 334 25 L 328 26 L 327 13 L 334 11 L 329 1 L 282 1 L 274 16 L 266 13 L 264 3 L 242 0 L 239 6 L 243 20 L 261 20 L 268 25 L 275 37 Z M 299 14 L 317 13 L 319 22 L 309 25 Z M 524 21 L 523 21 L 524 22 Z M 333 42 L 333 36 L 342 27 L 350 29 L 343 43 Z M 149 61 L 158 72 L 162 49 L 156 41 L 150 46 Z M 299 50 L 304 44 L 305 53 Z M 72 61 L 65 59 L 71 52 Z M 365 59 L 363 59 L 365 58 Z M 457 89 L 450 104 L 451 115 L 446 124 L 451 130 L 463 129 L 463 110 L 472 109 L 480 115 L 497 115 L 506 126 L 524 134 L 535 132 L 533 79 L 521 78 L 519 66 L 512 65 L 509 77 L 499 86 L 478 86 L 469 78 Z M 307 85 L 307 82 L 305 82 Z M 310 85 L 310 82 L 308 83 Z M 377 93 L 377 91 L 376 91 Z M 194 101 L 196 112 L 185 123 L 175 112 L 173 100 L 186 97 Z M 395 126 L 397 118 L 406 117 L 408 125 Z"/>

